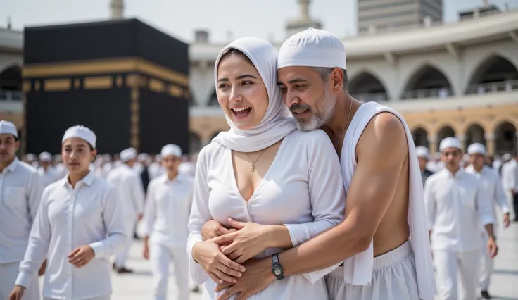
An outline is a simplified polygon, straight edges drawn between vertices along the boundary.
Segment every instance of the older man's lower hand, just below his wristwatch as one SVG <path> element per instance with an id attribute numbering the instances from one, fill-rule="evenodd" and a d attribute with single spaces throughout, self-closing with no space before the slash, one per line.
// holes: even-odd
<path id="1" fill-rule="evenodd" d="M 244 264 L 246 271 L 243 276 L 237 279 L 237 282 L 232 285 L 229 282 L 220 281 L 216 286 L 215 291 L 222 292 L 217 300 L 227 300 L 232 295 L 238 294 L 234 300 L 246 300 L 249 296 L 257 294 L 265 289 L 270 283 L 276 280 L 272 273 L 272 258 L 251 258 Z M 231 286 L 232 285 L 232 286 Z"/>

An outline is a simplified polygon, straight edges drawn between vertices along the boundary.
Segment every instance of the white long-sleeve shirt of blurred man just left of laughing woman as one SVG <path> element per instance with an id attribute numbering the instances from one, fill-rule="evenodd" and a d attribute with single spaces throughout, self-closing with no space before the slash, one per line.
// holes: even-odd
<path id="1" fill-rule="evenodd" d="M 151 243 L 184 248 L 187 245 L 194 181 L 187 175 L 173 180 L 167 174 L 149 182 L 144 210 L 144 235 Z"/>

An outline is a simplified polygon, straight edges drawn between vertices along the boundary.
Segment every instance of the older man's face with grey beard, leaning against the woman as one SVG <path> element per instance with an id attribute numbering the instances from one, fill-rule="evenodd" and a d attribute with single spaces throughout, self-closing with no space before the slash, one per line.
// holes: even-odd
<path id="1" fill-rule="evenodd" d="M 282 101 L 288 106 L 297 127 L 315 130 L 331 120 L 336 98 L 331 95 L 331 82 L 309 67 L 286 67 L 277 70 Z"/>

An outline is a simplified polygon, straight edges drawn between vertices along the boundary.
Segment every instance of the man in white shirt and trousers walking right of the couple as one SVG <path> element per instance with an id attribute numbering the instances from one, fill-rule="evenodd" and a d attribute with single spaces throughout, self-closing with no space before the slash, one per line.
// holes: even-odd
<path id="1" fill-rule="evenodd" d="M 498 248 L 493 235 L 493 200 L 479 178 L 460 168 L 462 145 L 455 137 L 441 141 L 443 170 L 431 175 L 424 185 L 427 223 L 436 265 L 439 300 L 476 299 L 481 251 L 495 257 Z M 488 242 L 480 249 L 484 225 Z M 457 273 L 460 282 L 457 282 Z M 460 291 L 458 290 L 460 285 Z"/>

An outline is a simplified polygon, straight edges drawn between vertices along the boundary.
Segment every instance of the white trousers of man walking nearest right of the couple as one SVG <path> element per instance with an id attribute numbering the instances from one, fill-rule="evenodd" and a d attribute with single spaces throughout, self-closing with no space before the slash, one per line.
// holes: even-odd
<path id="1" fill-rule="evenodd" d="M 480 251 L 434 251 L 437 300 L 476 299 L 480 274 Z M 460 279 L 460 289 L 457 280 Z"/>

